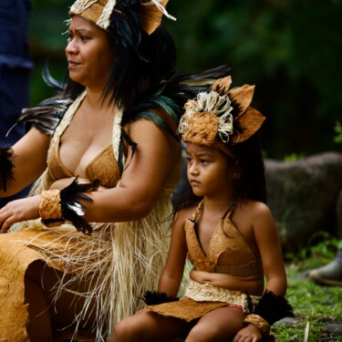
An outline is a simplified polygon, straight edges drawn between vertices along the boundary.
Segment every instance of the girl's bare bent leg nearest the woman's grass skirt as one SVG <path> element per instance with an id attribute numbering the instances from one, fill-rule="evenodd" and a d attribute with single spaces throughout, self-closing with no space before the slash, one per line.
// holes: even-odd
<path id="1" fill-rule="evenodd" d="M 170 341 L 189 331 L 191 324 L 172 317 L 163 317 L 149 309 L 121 320 L 115 327 L 110 342 Z"/>

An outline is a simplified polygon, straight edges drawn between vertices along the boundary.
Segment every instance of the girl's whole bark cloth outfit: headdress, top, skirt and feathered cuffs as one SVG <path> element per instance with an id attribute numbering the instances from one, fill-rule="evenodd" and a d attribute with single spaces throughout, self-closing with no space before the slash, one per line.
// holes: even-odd
<path id="1" fill-rule="evenodd" d="M 254 86 L 244 85 L 229 89 L 230 76 L 215 81 L 212 89 L 200 92 L 189 100 L 184 108 L 179 133 L 184 142 L 223 150 L 233 156 L 232 144 L 247 140 L 259 130 L 264 116 L 250 107 Z M 235 206 L 233 206 L 234 208 Z M 202 212 L 203 201 L 184 223 L 188 259 L 193 268 L 209 273 L 222 273 L 235 277 L 264 279 L 263 264 L 255 255 L 244 235 L 239 232 L 229 209 L 212 234 L 206 251 L 202 250 L 196 233 L 196 219 Z M 148 292 L 143 296 L 147 307 L 162 316 L 171 316 L 191 322 L 208 312 L 223 306 L 241 308 L 246 317 L 244 324 L 254 324 L 263 332 L 263 341 L 274 341 L 270 326 L 284 316 L 293 316 L 292 307 L 284 296 L 265 291 L 264 295 L 249 295 L 231 291 L 211 284 L 198 283 L 190 279 L 181 300 L 166 294 Z"/>

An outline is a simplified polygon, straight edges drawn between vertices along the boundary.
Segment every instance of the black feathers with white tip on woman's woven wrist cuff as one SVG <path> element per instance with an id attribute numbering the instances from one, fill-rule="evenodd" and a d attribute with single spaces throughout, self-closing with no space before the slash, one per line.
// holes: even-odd
<path id="1" fill-rule="evenodd" d="M 62 207 L 63 219 L 74 224 L 75 228 L 86 234 L 92 233 L 91 225 L 83 218 L 86 213 L 85 206 L 79 199 L 91 202 L 91 198 L 83 192 L 92 192 L 98 189 L 99 181 L 91 181 L 86 184 L 79 184 L 76 178 L 70 185 L 60 191 L 60 205 Z"/>

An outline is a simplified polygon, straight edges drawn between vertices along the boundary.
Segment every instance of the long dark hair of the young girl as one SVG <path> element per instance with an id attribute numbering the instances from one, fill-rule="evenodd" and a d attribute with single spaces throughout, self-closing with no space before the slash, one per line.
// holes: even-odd
<path id="1" fill-rule="evenodd" d="M 229 145 L 238 163 L 240 177 L 233 184 L 233 207 L 239 202 L 251 199 L 267 202 L 264 159 L 257 134 L 248 140 Z M 232 160 L 231 157 L 228 157 Z M 233 161 L 233 160 L 232 160 Z M 173 201 L 173 212 L 198 204 L 202 197 L 192 192 L 189 181 L 184 181 L 181 194 Z"/>

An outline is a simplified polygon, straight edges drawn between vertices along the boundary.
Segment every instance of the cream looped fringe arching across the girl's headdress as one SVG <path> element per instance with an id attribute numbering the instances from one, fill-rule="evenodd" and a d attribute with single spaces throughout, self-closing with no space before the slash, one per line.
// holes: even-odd
<path id="1" fill-rule="evenodd" d="M 212 112 L 219 119 L 217 132 L 223 142 L 229 141 L 229 136 L 233 134 L 233 115 L 231 111 L 231 100 L 228 95 L 220 96 L 216 91 L 201 92 L 185 103 L 185 113 L 181 117 L 179 133 L 183 134 L 187 130 L 189 120 L 195 113 Z"/>

